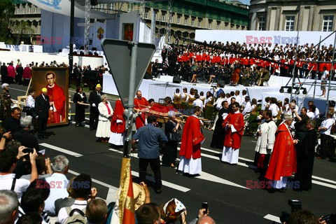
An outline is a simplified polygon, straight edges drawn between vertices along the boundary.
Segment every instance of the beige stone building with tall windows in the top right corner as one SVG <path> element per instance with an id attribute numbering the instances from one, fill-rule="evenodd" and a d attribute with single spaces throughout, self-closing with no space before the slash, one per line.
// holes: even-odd
<path id="1" fill-rule="evenodd" d="M 251 30 L 335 31 L 335 0 L 251 0 Z"/>

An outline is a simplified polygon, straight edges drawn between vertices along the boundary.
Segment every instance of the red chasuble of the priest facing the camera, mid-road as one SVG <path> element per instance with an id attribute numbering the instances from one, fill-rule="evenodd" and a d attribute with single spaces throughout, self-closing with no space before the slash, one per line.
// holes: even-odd
<path id="1" fill-rule="evenodd" d="M 231 132 L 231 128 L 226 128 L 224 146 L 238 149 L 240 148 L 241 137 L 244 134 L 244 116 L 241 113 L 229 113 L 223 120 L 222 126 L 225 128 L 228 124 L 233 125 L 237 132 Z"/>

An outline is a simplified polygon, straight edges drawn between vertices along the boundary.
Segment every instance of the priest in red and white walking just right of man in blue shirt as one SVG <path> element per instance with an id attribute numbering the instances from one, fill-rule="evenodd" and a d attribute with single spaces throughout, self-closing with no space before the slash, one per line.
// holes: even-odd
<path id="1" fill-rule="evenodd" d="M 183 128 L 178 172 L 184 174 L 197 175 L 202 172 L 201 144 L 205 138 L 201 132 L 202 123 L 198 119 L 201 112 L 200 106 L 195 106 L 194 114 L 188 117 Z"/>

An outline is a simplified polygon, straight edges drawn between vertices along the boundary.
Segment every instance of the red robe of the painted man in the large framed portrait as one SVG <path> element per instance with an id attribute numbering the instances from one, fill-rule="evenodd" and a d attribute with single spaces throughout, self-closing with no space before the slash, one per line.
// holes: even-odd
<path id="1" fill-rule="evenodd" d="M 48 124 L 61 123 L 65 117 L 65 95 L 63 89 L 54 83 L 53 87 L 47 85 L 49 102 L 54 102 L 54 110 L 49 111 Z M 62 116 L 62 120 L 61 120 Z"/>

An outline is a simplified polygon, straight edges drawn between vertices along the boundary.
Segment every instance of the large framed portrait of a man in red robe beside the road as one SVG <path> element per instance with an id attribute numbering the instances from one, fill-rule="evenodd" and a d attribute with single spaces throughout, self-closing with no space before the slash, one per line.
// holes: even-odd
<path id="1" fill-rule="evenodd" d="M 31 87 L 36 96 L 42 88 L 48 90 L 50 103 L 47 126 L 68 124 L 69 113 L 69 69 L 54 67 L 32 67 Z"/>

